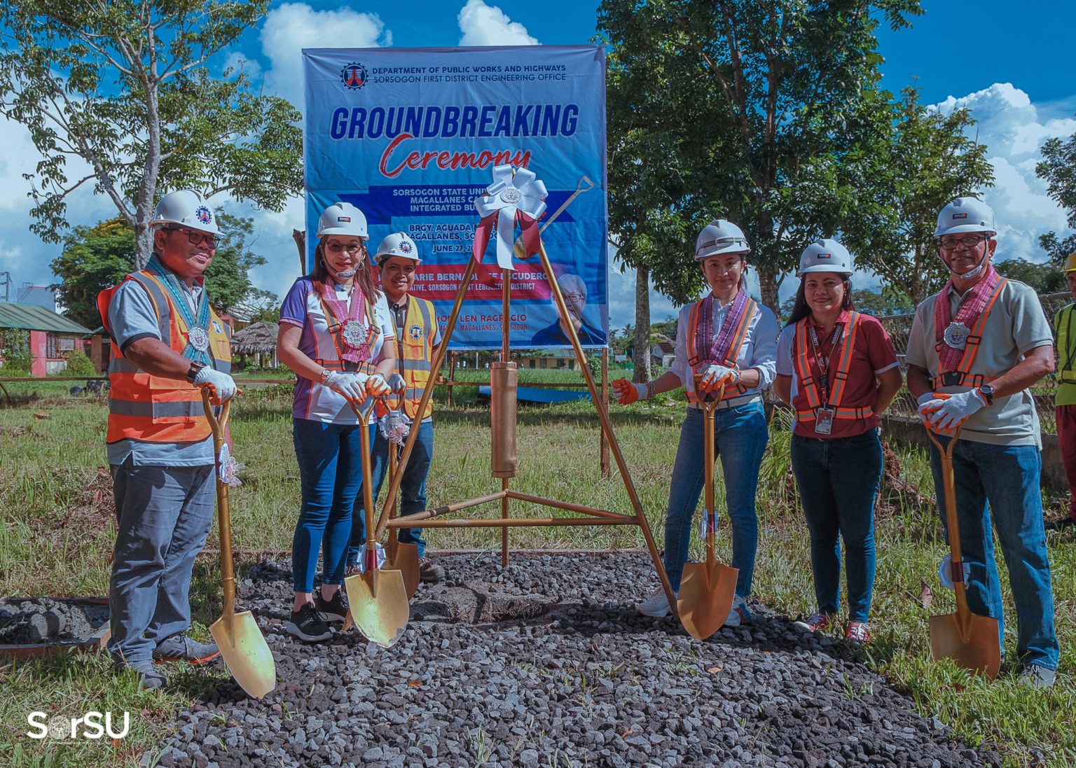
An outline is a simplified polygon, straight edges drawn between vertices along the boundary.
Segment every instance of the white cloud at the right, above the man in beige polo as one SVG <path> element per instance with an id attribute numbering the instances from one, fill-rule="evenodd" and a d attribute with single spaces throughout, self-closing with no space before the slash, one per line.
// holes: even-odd
<path id="1" fill-rule="evenodd" d="M 944 113 L 967 108 L 978 120 L 968 134 L 987 145 L 994 169 L 994 186 L 983 190 L 982 197 L 994 209 L 999 257 L 1044 260 L 1038 236 L 1050 230 L 1066 234 L 1068 230 L 1064 211 L 1047 196 L 1046 183 L 1035 175 L 1035 163 L 1042 159 L 1039 151 L 1047 139 L 1076 133 L 1076 119 L 1044 113 L 1071 115 L 1076 111 L 1076 97 L 1039 110 L 1011 83 L 994 83 L 967 96 L 950 96 L 937 108 Z"/>

